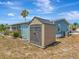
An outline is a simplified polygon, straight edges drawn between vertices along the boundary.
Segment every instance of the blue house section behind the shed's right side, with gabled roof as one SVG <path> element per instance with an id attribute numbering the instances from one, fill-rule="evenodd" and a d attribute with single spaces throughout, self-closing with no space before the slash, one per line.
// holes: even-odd
<path id="1" fill-rule="evenodd" d="M 56 24 L 57 32 L 56 37 L 62 37 L 67 34 L 69 31 L 69 23 L 66 21 L 66 19 L 59 19 L 54 21 Z"/>

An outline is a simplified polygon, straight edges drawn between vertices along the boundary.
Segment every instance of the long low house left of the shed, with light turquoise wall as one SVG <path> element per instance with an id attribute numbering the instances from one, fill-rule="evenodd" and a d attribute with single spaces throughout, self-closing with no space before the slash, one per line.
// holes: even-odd
<path id="1" fill-rule="evenodd" d="M 28 41 L 29 40 L 29 23 L 30 22 L 12 24 L 10 25 L 10 30 L 19 31 L 22 39 L 25 41 Z"/>

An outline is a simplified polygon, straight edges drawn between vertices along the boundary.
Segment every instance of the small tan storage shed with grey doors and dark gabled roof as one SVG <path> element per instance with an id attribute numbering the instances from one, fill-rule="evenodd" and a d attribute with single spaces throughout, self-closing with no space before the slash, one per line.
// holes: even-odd
<path id="1" fill-rule="evenodd" d="M 29 25 L 30 43 L 45 48 L 56 41 L 56 26 L 51 21 L 34 17 Z"/>

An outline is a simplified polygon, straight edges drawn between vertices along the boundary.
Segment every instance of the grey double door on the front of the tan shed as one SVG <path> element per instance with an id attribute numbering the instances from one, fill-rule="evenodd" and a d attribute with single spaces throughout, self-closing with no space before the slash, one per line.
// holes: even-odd
<path id="1" fill-rule="evenodd" d="M 41 45 L 41 25 L 30 26 L 30 42 Z"/>

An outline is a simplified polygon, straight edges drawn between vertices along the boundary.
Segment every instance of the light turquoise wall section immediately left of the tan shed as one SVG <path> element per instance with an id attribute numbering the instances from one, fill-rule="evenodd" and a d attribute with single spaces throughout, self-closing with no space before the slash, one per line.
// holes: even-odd
<path id="1" fill-rule="evenodd" d="M 22 39 L 28 40 L 29 37 L 29 27 L 27 25 L 21 25 L 21 36 Z"/>

